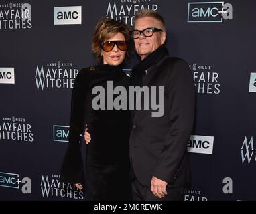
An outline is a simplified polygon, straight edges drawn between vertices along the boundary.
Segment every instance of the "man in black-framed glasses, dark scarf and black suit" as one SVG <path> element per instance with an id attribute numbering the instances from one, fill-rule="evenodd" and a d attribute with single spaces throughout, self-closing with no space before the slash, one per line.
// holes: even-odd
<path id="1" fill-rule="evenodd" d="M 195 91 L 188 64 L 168 57 L 166 26 L 156 11 L 141 9 L 131 35 L 141 63 L 131 72 L 132 86 L 164 86 L 164 115 L 133 110 L 130 134 L 134 200 L 184 200 L 190 166 L 186 145 L 194 123 Z M 86 142 L 90 135 L 86 132 Z"/>

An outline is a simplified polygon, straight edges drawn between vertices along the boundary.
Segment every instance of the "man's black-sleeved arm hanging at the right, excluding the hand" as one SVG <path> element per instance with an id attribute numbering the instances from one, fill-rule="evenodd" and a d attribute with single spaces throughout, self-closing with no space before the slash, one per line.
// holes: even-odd
<path id="1" fill-rule="evenodd" d="M 194 124 L 195 90 L 188 64 L 178 59 L 170 71 L 168 82 L 168 114 L 170 128 L 164 142 L 154 176 L 168 183 L 174 175 L 187 149 L 188 139 Z"/>

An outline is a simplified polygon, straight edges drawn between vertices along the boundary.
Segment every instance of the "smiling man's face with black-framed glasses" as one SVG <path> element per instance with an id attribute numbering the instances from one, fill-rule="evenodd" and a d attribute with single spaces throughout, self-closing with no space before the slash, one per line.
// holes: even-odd
<path id="1" fill-rule="evenodd" d="M 134 29 L 142 31 L 147 27 L 156 27 L 158 29 L 163 29 L 160 21 L 153 17 L 142 17 L 137 19 L 134 25 Z M 143 33 L 139 35 L 139 38 L 134 39 L 135 49 L 137 54 L 141 57 L 141 60 L 155 51 L 158 47 L 164 44 L 166 41 L 166 32 L 154 32 L 151 37 L 145 37 Z"/>

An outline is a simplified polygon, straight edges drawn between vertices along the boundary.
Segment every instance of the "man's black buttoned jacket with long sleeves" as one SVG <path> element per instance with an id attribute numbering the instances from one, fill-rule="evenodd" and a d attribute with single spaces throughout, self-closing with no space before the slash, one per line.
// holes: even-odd
<path id="1" fill-rule="evenodd" d="M 145 186 L 153 175 L 172 187 L 184 185 L 190 179 L 186 146 L 194 124 L 192 72 L 184 60 L 166 57 L 149 68 L 143 85 L 165 87 L 164 115 L 133 111 L 129 144 L 135 176 Z"/>

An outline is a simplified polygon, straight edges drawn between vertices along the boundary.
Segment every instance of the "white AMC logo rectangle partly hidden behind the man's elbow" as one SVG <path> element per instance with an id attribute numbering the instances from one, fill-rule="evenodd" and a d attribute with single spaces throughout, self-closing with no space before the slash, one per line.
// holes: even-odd
<path id="1" fill-rule="evenodd" d="M 191 135 L 188 140 L 188 152 L 212 154 L 214 136 Z"/>

